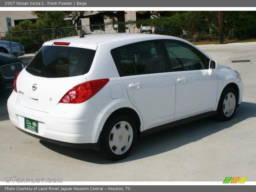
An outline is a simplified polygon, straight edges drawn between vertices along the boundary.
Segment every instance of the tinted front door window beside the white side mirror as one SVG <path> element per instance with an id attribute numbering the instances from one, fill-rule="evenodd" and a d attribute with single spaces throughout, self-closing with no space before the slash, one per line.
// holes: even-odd
<path id="1" fill-rule="evenodd" d="M 205 56 L 189 45 L 176 41 L 164 41 L 164 45 L 173 71 L 207 69 L 209 66 Z"/>

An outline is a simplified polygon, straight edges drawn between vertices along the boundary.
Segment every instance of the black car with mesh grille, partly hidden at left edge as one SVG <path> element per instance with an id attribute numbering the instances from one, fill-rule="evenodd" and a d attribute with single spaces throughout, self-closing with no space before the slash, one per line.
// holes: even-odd
<path id="1" fill-rule="evenodd" d="M 23 62 L 17 57 L 0 53 L 0 92 L 12 88 L 14 76 L 23 68 Z"/>

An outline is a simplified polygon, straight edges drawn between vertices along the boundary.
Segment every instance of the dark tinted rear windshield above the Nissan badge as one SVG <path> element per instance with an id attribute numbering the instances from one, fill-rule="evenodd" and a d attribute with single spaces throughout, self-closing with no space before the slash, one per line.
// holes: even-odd
<path id="1" fill-rule="evenodd" d="M 89 71 L 94 50 L 64 46 L 43 46 L 26 70 L 35 76 L 71 77 Z"/>

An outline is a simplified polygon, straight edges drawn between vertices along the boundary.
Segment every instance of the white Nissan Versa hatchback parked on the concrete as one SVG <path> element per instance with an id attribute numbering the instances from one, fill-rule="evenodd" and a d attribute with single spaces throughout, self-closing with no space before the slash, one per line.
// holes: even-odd
<path id="1" fill-rule="evenodd" d="M 100 34 L 44 43 L 15 76 L 7 107 L 22 132 L 119 160 L 144 134 L 231 119 L 242 97 L 237 71 L 183 39 Z"/>

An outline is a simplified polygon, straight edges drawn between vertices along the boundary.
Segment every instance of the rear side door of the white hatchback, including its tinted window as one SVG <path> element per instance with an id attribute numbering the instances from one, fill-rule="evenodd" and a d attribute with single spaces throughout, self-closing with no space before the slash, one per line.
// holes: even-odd
<path id="1" fill-rule="evenodd" d="M 119 73 L 132 104 L 140 111 L 143 130 L 174 118 L 175 82 L 158 41 L 114 50 Z"/>

